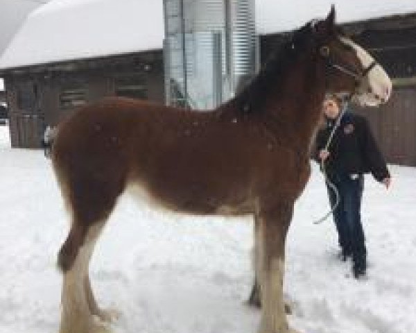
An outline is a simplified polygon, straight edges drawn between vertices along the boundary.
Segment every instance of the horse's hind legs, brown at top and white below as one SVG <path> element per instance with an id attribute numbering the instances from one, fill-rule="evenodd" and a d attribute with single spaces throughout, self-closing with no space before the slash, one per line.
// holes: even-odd
<path id="1" fill-rule="evenodd" d="M 89 261 L 96 241 L 112 212 L 123 182 L 107 182 L 83 177 L 66 187 L 73 223 L 58 257 L 62 269 L 62 318 L 60 333 L 110 332 L 89 282 Z"/>

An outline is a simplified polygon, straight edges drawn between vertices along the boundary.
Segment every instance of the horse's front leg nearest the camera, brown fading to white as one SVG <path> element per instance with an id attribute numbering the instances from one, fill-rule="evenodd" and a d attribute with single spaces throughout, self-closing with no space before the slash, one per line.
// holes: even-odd
<path id="1" fill-rule="evenodd" d="M 279 204 L 261 210 L 257 217 L 257 278 L 261 293 L 259 333 L 288 333 L 283 299 L 284 251 L 293 204 Z"/>

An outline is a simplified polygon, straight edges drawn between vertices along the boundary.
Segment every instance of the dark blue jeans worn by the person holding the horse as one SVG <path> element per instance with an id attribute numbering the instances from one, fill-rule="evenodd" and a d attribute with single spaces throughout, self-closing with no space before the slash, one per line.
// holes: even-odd
<path id="1" fill-rule="evenodd" d="M 354 264 L 366 266 L 367 249 L 363 225 L 361 224 L 361 199 L 363 198 L 363 175 L 338 176 L 332 180 L 340 194 L 340 202 L 333 212 L 333 221 L 338 231 L 338 240 L 343 255 L 352 255 Z M 327 186 L 331 207 L 336 204 L 333 189 Z"/>

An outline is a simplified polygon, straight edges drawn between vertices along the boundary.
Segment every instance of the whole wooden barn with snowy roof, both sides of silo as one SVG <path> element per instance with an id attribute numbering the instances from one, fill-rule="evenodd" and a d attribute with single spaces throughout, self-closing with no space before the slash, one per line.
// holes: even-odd
<path id="1" fill-rule="evenodd" d="M 261 62 L 295 28 L 276 2 L 256 1 Z M 288 6 L 295 10 L 297 2 Z M 387 69 L 394 94 L 378 112 L 357 111 L 370 120 L 388 162 L 416 166 L 416 4 L 374 12 L 371 2 L 360 10 L 339 6 L 340 21 Z M 298 25 L 310 19 L 303 13 Z M 0 58 L 12 146 L 39 146 L 47 125 L 103 96 L 164 103 L 163 15 L 162 1 L 154 0 L 58 1 L 33 12 Z"/>

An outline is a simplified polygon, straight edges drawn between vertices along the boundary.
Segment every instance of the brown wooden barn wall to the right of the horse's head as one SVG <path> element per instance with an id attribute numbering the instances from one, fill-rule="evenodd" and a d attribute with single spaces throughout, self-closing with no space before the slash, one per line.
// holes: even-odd
<path id="1" fill-rule="evenodd" d="M 381 108 L 356 108 L 370 120 L 388 162 L 416 167 L 416 26 L 367 30 L 354 37 L 393 79 L 393 92 Z"/>

